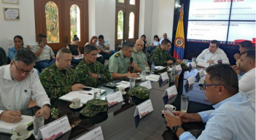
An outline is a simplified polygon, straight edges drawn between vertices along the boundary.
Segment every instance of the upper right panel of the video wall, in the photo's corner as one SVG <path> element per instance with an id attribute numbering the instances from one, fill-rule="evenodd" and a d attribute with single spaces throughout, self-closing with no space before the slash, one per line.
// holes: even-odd
<path id="1" fill-rule="evenodd" d="M 256 20 L 256 0 L 233 1 L 230 20 Z"/>

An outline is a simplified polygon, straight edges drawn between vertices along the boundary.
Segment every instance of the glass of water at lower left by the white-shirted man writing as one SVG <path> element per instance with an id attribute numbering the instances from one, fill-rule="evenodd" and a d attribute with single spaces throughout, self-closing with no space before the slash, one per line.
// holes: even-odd
<path id="1" fill-rule="evenodd" d="M 37 139 L 37 134 L 39 131 L 39 128 L 44 126 L 44 114 L 35 114 L 33 116 L 33 124 L 34 124 L 34 136 Z"/>

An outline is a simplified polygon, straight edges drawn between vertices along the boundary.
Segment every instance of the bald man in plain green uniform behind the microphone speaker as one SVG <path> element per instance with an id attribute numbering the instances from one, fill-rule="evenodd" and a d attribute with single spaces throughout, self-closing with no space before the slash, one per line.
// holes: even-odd
<path id="1" fill-rule="evenodd" d="M 142 52 L 142 49 L 144 47 L 144 42 L 142 39 L 138 39 L 135 43 L 135 46 L 133 48 L 133 62 L 136 63 L 134 66 L 134 71 L 141 72 L 145 69 L 145 67 L 150 67 L 147 63 L 147 56 L 144 52 Z"/>

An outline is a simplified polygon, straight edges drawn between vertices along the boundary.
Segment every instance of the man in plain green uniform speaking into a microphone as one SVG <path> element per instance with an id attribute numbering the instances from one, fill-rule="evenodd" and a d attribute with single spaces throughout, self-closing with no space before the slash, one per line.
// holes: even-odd
<path id="1" fill-rule="evenodd" d="M 133 43 L 123 43 L 122 50 L 115 52 L 109 58 L 109 72 L 112 74 L 113 79 L 122 79 L 125 77 L 139 77 L 137 73 L 130 73 L 130 58 L 133 54 Z M 131 63 L 131 66 L 135 67 L 136 63 Z"/>

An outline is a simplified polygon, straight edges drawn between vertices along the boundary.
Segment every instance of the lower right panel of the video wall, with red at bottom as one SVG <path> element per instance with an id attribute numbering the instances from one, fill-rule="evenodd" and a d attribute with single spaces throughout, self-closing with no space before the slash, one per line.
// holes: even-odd
<path id="1" fill-rule="evenodd" d="M 250 40 L 256 44 L 256 22 L 230 21 L 228 44 Z"/>

